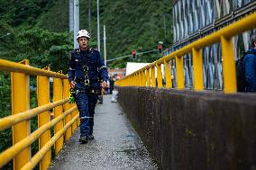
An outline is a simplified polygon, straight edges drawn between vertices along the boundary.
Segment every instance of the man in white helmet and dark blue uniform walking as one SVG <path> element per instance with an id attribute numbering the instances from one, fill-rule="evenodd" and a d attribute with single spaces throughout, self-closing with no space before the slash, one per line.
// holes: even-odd
<path id="1" fill-rule="evenodd" d="M 106 86 L 107 69 L 100 53 L 89 48 L 90 35 L 86 30 L 78 31 L 79 49 L 71 53 L 69 60 L 69 83 L 75 89 L 80 118 L 81 143 L 94 139 L 94 113 L 97 95 L 101 86 Z"/>

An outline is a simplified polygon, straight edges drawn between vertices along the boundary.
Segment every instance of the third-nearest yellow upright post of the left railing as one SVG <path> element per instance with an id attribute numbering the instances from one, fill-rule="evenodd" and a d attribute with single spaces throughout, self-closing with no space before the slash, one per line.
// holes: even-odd
<path id="1" fill-rule="evenodd" d="M 59 101 L 62 99 L 62 81 L 59 78 L 53 79 L 53 101 Z M 62 114 L 62 105 L 55 107 L 54 110 L 54 118 L 57 118 L 60 114 Z M 59 130 L 63 129 L 63 121 L 59 121 L 54 127 L 54 134 L 56 134 Z M 57 155 L 60 149 L 63 147 L 63 136 L 61 136 L 56 144 L 55 144 L 55 154 Z"/>

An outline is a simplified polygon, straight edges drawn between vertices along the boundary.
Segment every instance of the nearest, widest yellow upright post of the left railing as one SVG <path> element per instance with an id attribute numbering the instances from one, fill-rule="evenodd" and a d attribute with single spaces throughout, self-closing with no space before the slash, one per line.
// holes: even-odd
<path id="1" fill-rule="evenodd" d="M 20 62 L 29 65 L 29 60 Z M 12 114 L 30 109 L 30 76 L 23 73 L 11 73 Z M 31 133 L 30 121 L 23 121 L 13 126 L 13 144 L 28 137 Z M 14 157 L 14 170 L 21 169 L 31 158 L 31 147 L 25 148 Z"/>

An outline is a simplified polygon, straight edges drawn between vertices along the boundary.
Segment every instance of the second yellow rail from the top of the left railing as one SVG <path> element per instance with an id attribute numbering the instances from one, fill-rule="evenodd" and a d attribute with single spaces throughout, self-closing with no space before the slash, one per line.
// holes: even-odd
<path id="1" fill-rule="evenodd" d="M 14 114 L 10 116 L 6 116 L 5 118 L 0 119 L 0 130 L 5 130 L 7 128 L 12 127 L 14 124 L 22 122 L 22 121 L 28 121 L 32 117 L 38 115 L 41 112 L 46 112 L 56 106 L 59 106 L 63 103 L 67 103 L 69 99 L 63 99 L 54 103 L 47 103 L 43 106 L 34 108 L 32 110 L 28 110 L 25 112 L 20 112 L 19 114 Z"/>

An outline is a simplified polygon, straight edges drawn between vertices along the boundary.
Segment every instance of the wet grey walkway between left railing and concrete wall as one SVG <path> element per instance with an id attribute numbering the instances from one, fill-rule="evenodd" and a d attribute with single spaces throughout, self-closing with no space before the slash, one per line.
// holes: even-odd
<path id="1" fill-rule="evenodd" d="M 80 144 L 78 128 L 50 170 L 158 169 L 119 104 L 111 103 L 111 95 L 104 95 L 104 103 L 96 106 L 94 136 Z"/>

